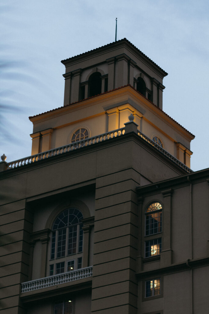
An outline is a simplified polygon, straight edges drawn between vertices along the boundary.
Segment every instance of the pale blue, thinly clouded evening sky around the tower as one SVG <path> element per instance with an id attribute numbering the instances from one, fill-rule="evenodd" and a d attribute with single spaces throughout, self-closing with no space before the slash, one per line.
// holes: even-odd
<path id="1" fill-rule="evenodd" d="M 196 137 L 191 169 L 209 167 L 207 0 L 2 0 L 0 155 L 31 154 L 29 116 L 63 106 L 61 60 L 126 37 L 163 68 L 163 110 Z"/>

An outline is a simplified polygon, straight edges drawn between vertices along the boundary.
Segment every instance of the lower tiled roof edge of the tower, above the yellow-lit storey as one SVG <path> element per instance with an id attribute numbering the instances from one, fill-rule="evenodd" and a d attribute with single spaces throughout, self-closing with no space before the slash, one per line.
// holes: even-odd
<path id="1" fill-rule="evenodd" d="M 68 105 L 65 105 L 65 106 L 61 106 L 61 107 L 58 107 L 58 108 L 55 108 L 55 109 L 52 109 L 52 110 L 49 110 L 49 111 L 45 111 L 45 112 L 42 112 L 42 113 L 39 113 L 38 115 L 35 115 L 35 116 L 29 116 L 29 119 L 32 119 L 34 117 L 37 117 L 37 116 L 41 116 L 41 115 L 44 115 L 45 113 L 48 113 L 48 112 L 52 112 L 52 111 L 55 111 L 55 110 L 58 110 L 58 109 L 61 109 L 61 108 L 64 108 L 64 107 L 68 107 L 68 106 L 71 106 L 71 105 L 74 105 L 74 104 L 77 104 L 77 103 L 80 103 L 82 101 L 85 101 L 87 99 L 91 99 L 91 98 L 95 98 L 97 96 L 100 96 L 100 95 L 104 95 L 104 94 L 108 94 L 108 93 L 111 93 L 115 90 L 118 90 L 118 89 L 122 89 L 124 87 L 131 87 L 132 89 L 134 89 L 138 94 L 140 94 L 142 97 L 144 97 L 146 100 L 148 100 L 153 106 L 155 106 L 158 110 L 162 111 L 167 117 L 169 117 L 172 121 L 174 121 L 176 124 L 178 124 L 180 127 L 182 127 L 182 125 L 180 125 L 180 123 L 178 123 L 177 121 L 175 121 L 173 118 L 171 118 L 167 113 L 165 113 L 165 111 L 163 111 L 162 109 L 160 109 L 158 106 L 156 106 L 152 101 L 150 101 L 149 99 L 147 99 L 144 95 L 142 95 L 141 93 L 138 92 L 138 90 L 136 90 L 133 86 L 131 86 L 130 84 L 128 85 L 124 85 L 122 87 L 118 87 L 116 89 L 112 89 L 112 90 L 108 90 L 107 92 L 105 93 L 102 93 L 102 94 L 98 94 L 98 95 L 95 95 L 95 96 L 91 96 L 91 97 L 88 97 L 86 99 L 82 99 L 82 100 L 79 100 L 79 101 L 76 101 L 76 102 L 73 102 L 71 104 L 68 104 Z M 185 127 L 182 127 L 186 132 L 188 132 L 191 136 L 195 137 L 194 134 L 192 134 L 191 132 L 189 132 L 187 129 L 185 129 Z"/>

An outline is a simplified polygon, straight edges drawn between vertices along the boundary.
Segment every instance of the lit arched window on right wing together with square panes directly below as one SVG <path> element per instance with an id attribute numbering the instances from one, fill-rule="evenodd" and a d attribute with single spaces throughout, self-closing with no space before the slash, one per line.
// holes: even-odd
<path id="1" fill-rule="evenodd" d="M 162 205 L 151 203 L 145 215 L 145 236 L 149 236 L 145 241 L 145 257 L 153 257 L 159 255 L 162 248 L 162 238 L 153 236 L 162 232 Z"/>

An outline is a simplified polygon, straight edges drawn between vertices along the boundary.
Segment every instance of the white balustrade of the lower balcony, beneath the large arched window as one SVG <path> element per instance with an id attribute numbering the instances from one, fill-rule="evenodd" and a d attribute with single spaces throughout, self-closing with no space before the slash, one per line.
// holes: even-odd
<path id="1" fill-rule="evenodd" d="M 92 276 L 93 267 L 80 268 L 67 273 L 53 275 L 45 278 L 23 282 L 22 293 L 42 288 L 48 288 L 58 284 L 65 284 L 67 282 L 75 281 L 78 279 L 88 278 Z"/>

